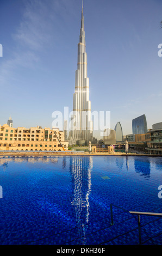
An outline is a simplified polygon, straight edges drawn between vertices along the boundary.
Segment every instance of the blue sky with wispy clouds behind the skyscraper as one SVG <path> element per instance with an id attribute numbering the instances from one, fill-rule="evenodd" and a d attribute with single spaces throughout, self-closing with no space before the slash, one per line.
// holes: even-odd
<path id="1" fill-rule="evenodd" d="M 123 135 L 139 115 L 148 128 L 162 121 L 161 9 L 84 0 L 91 111 L 110 111 Z M 0 124 L 11 115 L 14 127 L 51 127 L 54 111 L 72 111 L 81 11 L 81 0 L 0 0 Z"/>

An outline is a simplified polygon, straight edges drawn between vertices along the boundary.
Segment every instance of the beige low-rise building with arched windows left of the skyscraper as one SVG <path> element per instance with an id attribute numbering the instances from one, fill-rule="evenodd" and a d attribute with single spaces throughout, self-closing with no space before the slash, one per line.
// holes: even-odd
<path id="1" fill-rule="evenodd" d="M 68 150 L 68 142 L 64 141 L 64 132 L 57 128 L 0 125 L 0 150 L 63 151 L 63 148 Z"/>

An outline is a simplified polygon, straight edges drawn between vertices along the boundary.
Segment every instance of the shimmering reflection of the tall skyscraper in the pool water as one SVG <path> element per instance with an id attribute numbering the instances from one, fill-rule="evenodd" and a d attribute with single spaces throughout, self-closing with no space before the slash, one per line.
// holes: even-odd
<path id="1" fill-rule="evenodd" d="M 84 223 L 89 222 L 89 194 L 91 192 L 91 169 L 92 156 L 71 157 L 70 172 L 72 174 L 72 199 L 71 204 L 76 211 L 76 221 L 78 225 L 79 244 L 85 244 Z"/>

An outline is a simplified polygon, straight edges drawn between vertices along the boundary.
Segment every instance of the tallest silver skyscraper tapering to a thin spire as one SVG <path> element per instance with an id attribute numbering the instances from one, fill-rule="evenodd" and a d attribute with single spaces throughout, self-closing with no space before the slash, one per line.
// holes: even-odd
<path id="1" fill-rule="evenodd" d="M 85 52 L 83 5 L 77 68 L 70 137 L 76 140 L 76 142 L 84 142 L 92 138 L 92 121 L 91 101 L 89 100 L 89 78 L 87 76 L 87 54 Z"/>

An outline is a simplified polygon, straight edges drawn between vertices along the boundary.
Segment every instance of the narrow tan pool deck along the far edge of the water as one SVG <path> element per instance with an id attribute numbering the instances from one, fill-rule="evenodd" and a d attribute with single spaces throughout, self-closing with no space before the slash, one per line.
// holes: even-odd
<path id="1" fill-rule="evenodd" d="M 79 151 L 69 151 L 69 152 L 1 152 L 0 156 L 162 156 L 153 154 L 138 154 L 138 153 L 88 153 Z"/>

